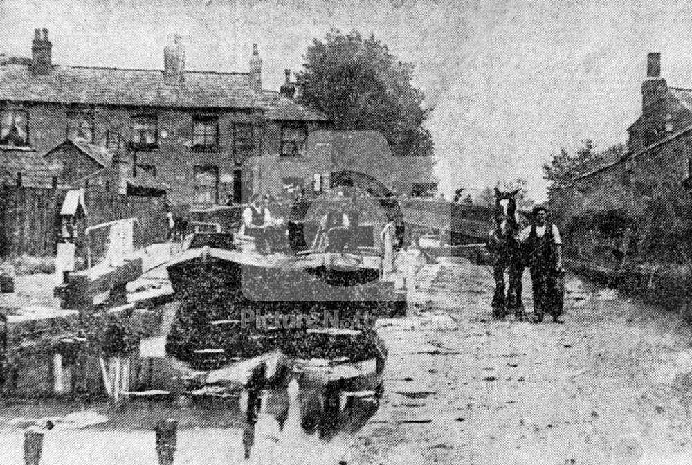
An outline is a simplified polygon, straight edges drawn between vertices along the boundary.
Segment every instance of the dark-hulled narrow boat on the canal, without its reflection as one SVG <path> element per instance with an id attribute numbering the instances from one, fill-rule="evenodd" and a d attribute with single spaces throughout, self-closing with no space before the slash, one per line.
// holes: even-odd
<path id="1" fill-rule="evenodd" d="M 381 256 L 373 248 L 331 252 L 260 253 L 252 237 L 197 233 L 167 267 L 176 296 L 209 310 L 286 309 L 309 311 L 350 302 L 392 302 L 394 284 L 381 277 Z M 260 305 L 253 305 L 253 303 Z M 336 305 L 336 307 L 339 307 Z M 232 316 L 233 312 L 229 316 Z"/>

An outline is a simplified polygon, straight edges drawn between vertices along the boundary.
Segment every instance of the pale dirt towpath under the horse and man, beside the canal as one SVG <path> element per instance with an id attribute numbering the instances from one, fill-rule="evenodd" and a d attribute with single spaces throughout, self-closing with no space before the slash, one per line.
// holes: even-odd
<path id="1" fill-rule="evenodd" d="M 692 462 L 680 316 L 568 275 L 565 324 L 497 322 L 486 268 L 418 278 L 417 316 L 381 322 L 385 394 L 349 464 Z"/>

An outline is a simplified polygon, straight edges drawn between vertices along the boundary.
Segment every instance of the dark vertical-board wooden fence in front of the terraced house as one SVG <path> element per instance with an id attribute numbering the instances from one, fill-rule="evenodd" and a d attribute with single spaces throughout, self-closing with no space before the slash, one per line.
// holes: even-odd
<path id="1" fill-rule="evenodd" d="M 60 208 L 66 190 L 0 186 L 0 257 L 55 254 L 60 237 Z M 116 219 L 138 219 L 135 246 L 166 238 L 165 197 L 86 192 L 86 226 Z"/>

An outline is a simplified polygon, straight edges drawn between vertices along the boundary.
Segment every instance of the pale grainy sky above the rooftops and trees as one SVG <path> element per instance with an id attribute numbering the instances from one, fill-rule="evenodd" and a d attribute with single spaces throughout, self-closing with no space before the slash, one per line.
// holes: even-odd
<path id="1" fill-rule="evenodd" d="M 474 194 L 522 177 L 538 201 L 541 167 L 561 147 L 626 142 L 648 52 L 662 53 L 668 85 L 692 86 L 682 1 L 0 0 L 1 51 L 30 56 L 35 28 L 69 65 L 162 69 L 178 33 L 187 69 L 246 72 L 257 43 L 265 89 L 331 28 L 372 33 L 415 65 L 441 188 Z"/>

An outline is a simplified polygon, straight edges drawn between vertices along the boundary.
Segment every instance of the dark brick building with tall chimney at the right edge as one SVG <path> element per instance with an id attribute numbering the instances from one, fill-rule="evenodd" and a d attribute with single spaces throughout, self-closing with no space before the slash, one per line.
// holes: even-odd
<path id="1" fill-rule="evenodd" d="M 622 257 L 668 259 L 680 248 L 682 239 L 662 239 L 661 229 L 684 221 L 666 207 L 690 203 L 692 89 L 668 86 L 660 60 L 648 54 L 641 115 L 628 128 L 627 152 L 549 192 L 554 218 L 574 229 L 565 234 L 574 244 L 567 253 L 578 259 L 620 266 Z M 598 247 L 590 250 L 590 243 Z"/>

